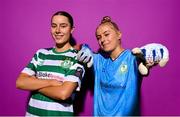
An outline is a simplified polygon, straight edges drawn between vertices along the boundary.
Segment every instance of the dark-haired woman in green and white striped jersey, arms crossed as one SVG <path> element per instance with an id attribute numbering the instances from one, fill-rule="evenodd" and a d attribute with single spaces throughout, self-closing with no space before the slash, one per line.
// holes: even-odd
<path id="1" fill-rule="evenodd" d="M 16 87 L 32 94 L 27 116 L 73 115 L 73 94 L 80 90 L 85 73 L 70 43 L 73 30 L 72 16 L 64 11 L 56 12 L 51 19 L 55 46 L 39 49 L 20 73 Z"/>

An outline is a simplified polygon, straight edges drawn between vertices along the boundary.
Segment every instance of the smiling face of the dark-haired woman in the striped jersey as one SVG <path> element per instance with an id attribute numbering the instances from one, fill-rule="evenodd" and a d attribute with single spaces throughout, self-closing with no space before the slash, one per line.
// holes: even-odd
<path id="1" fill-rule="evenodd" d="M 70 35 L 73 28 L 67 17 L 55 15 L 51 22 L 51 35 L 56 44 L 64 45 L 69 43 Z"/>

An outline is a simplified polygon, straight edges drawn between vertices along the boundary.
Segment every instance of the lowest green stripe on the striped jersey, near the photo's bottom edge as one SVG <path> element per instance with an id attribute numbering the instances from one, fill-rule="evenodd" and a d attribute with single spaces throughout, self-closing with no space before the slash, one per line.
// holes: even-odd
<path id="1" fill-rule="evenodd" d="M 52 111 L 28 106 L 28 113 L 37 116 L 73 116 L 72 112 Z"/>

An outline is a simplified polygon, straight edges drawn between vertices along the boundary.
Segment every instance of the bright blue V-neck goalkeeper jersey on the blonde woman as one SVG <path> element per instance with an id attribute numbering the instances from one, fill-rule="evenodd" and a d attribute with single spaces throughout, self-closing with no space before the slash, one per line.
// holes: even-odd
<path id="1" fill-rule="evenodd" d="M 135 56 L 123 51 L 116 60 L 94 55 L 95 116 L 139 115 L 139 87 L 141 78 Z"/>

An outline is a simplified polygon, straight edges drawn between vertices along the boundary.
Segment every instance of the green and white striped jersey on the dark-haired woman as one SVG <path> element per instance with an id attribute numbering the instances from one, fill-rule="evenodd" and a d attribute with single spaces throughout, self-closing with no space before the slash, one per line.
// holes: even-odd
<path id="1" fill-rule="evenodd" d="M 76 55 L 77 51 L 73 48 L 65 52 L 56 52 L 55 48 L 39 49 L 22 72 L 34 75 L 38 79 L 77 82 L 78 87 L 76 91 L 79 91 L 85 70 L 75 59 Z M 38 92 L 32 93 L 26 116 L 61 115 L 73 115 L 72 97 L 65 101 L 60 101 Z"/>

